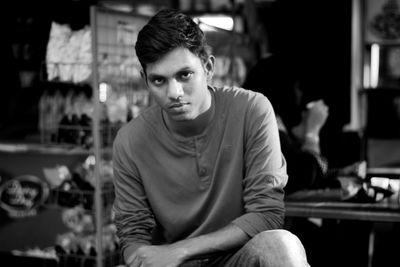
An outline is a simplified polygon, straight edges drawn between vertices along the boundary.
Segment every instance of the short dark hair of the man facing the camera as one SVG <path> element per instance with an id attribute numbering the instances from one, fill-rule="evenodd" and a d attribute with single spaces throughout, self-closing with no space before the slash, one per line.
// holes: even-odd
<path id="1" fill-rule="evenodd" d="M 205 35 L 194 20 L 172 8 L 160 10 L 140 30 L 135 45 L 139 62 L 154 63 L 175 48 L 187 48 L 203 62 L 208 59 Z"/>

